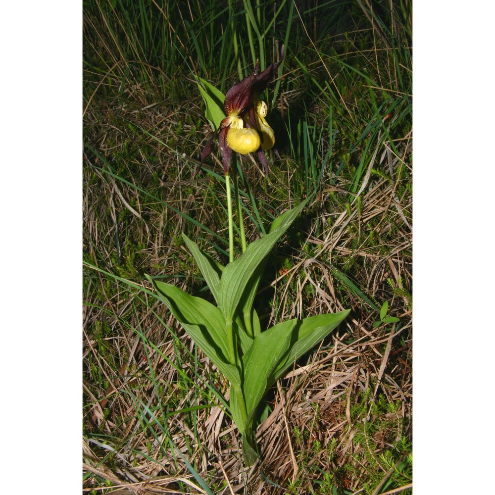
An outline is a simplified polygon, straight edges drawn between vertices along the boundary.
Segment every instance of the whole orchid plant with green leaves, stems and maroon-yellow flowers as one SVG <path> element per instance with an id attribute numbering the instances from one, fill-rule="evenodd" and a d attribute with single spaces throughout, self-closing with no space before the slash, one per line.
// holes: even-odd
<path id="1" fill-rule="evenodd" d="M 282 47 L 281 58 L 283 56 Z M 275 138 L 273 129 L 265 120 L 267 105 L 259 96 L 277 75 L 279 65 L 280 62 L 273 63 L 258 73 L 256 61 L 252 74 L 232 87 L 225 97 L 198 78 L 200 92 L 206 102 L 206 117 L 213 124 L 201 162 L 211 153 L 212 141 L 219 135 L 229 213 L 229 263 L 226 266 L 219 263 L 186 234 L 183 234 L 183 239 L 198 263 L 216 304 L 148 276 L 158 297 L 230 382 L 229 409 L 243 438 L 247 465 L 258 457 L 256 418 L 258 406 L 267 390 L 284 376 L 300 356 L 336 328 L 349 312 L 294 318 L 262 331 L 253 302 L 268 254 L 297 218 L 306 201 L 276 218 L 268 234 L 247 246 L 235 167 L 232 173 L 243 252 L 234 259 L 229 181 L 232 152 L 255 152 L 268 173 L 265 150 L 274 146 Z M 222 98 L 225 113 L 217 103 Z"/>

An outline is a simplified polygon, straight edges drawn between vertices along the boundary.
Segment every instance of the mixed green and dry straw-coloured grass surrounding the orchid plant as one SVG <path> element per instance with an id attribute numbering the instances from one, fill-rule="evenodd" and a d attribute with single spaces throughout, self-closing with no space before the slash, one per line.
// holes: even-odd
<path id="1" fill-rule="evenodd" d="M 410 3 L 390 8 L 85 2 L 86 491 L 412 493 Z M 263 461 L 246 471 L 223 378 L 143 274 L 202 291 L 182 232 L 227 259 L 220 162 L 192 179 L 208 132 L 193 75 L 225 91 L 276 42 L 282 157 L 267 178 L 242 162 L 247 237 L 310 206 L 270 258 L 258 312 L 352 317 L 270 393 Z M 399 322 L 382 321 L 385 301 Z"/>

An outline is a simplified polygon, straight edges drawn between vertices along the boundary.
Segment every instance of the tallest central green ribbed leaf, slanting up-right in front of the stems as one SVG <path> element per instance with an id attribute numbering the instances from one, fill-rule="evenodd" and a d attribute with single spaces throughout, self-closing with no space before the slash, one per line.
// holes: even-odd
<path id="1" fill-rule="evenodd" d="M 226 320 L 232 320 L 251 276 L 275 243 L 296 220 L 305 204 L 306 201 L 303 201 L 292 210 L 283 213 L 275 220 L 277 222 L 275 229 L 271 229 L 269 234 L 249 244 L 238 259 L 225 267 L 218 286 L 217 303 Z"/>

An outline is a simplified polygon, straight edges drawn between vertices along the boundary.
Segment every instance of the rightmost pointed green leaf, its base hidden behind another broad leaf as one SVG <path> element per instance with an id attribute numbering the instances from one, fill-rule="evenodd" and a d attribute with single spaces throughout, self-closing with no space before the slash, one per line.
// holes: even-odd
<path id="1" fill-rule="evenodd" d="M 284 359 L 274 372 L 274 381 L 278 380 L 294 364 L 296 359 L 305 354 L 312 347 L 319 344 L 334 328 L 345 320 L 350 309 L 339 313 L 320 314 L 304 318 L 294 327 L 291 337 L 292 345 Z"/>

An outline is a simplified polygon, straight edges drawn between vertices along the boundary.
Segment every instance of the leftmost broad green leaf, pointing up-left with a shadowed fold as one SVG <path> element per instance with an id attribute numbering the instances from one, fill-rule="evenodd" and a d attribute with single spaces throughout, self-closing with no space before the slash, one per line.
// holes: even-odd
<path id="1" fill-rule="evenodd" d="M 241 388 L 239 370 L 228 361 L 225 318 L 218 308 L 200 297 L 190 296 L 171 284 L 158 282 L 149 275 L 160 299 L 165 302 L 177 321 L 184 327 L 198 347 L 207 355 L 231 384 Z"/>

